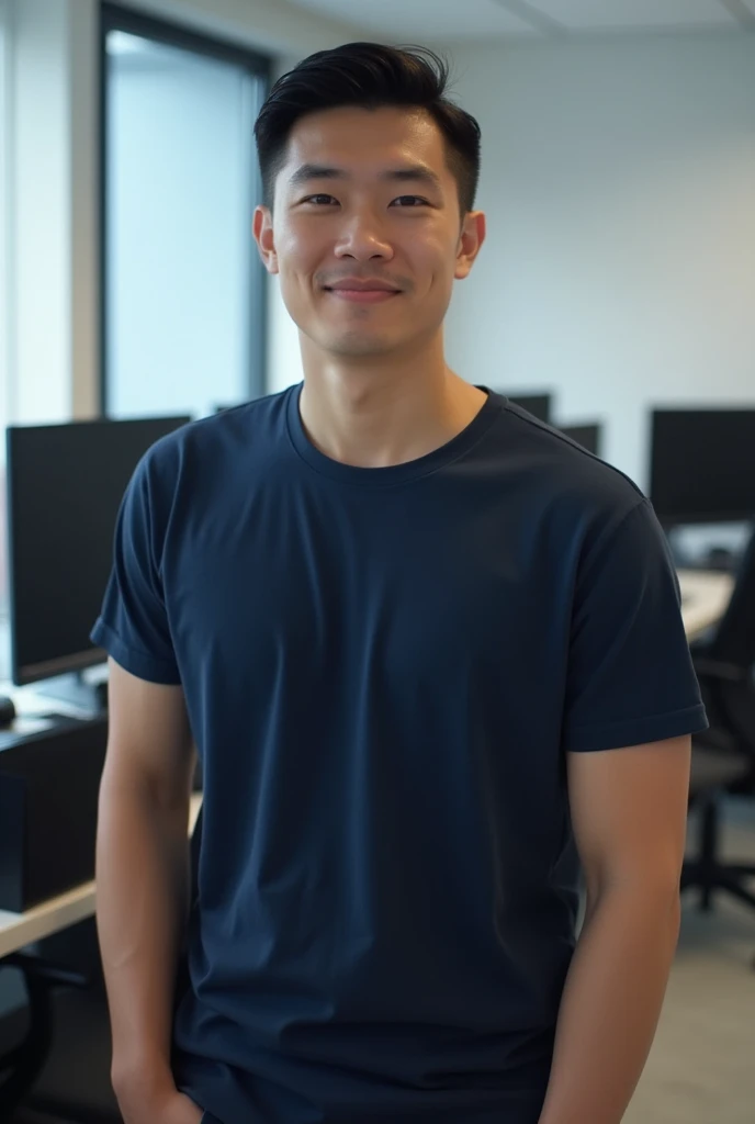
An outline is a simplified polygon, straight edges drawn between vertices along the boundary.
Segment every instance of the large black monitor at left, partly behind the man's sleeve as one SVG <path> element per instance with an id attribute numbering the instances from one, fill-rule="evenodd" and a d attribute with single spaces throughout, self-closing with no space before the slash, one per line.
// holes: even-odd
<path id="1" fill-rule="evenodd" d="M 89 633 L 112 565 L 120 501 L 149 446 L 190 420 L 8 427 L 15 683 L 79 671 L 104 660 Z"/>

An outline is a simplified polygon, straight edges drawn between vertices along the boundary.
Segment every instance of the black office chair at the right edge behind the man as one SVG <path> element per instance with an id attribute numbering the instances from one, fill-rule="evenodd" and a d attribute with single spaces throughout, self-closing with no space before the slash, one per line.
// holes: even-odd
<path id="1" fill-rule="evenodd" d="M 702 909 L 725 890 L 755 909 L 755 861 L 720 858 L 722 797 L 755 797 L 755 529 L 742 558 L 731 599 L 693 662 L 710 729 L 692 740 L 690 806 L 700 809 L 698 853 L 684 862 L 682 890 L 698 889 Z"/>

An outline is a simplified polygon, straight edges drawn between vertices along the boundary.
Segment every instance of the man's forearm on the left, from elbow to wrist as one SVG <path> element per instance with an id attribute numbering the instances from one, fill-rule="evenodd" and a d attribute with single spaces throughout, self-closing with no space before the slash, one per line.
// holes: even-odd
<path id="1" fill-rule="evenodd" d="M 175 973 L 189 889 L 188 796 L 161 801 L 106 777 L 97 924 L 112 1025 L 113 1085 L 170 1078 Z"/>

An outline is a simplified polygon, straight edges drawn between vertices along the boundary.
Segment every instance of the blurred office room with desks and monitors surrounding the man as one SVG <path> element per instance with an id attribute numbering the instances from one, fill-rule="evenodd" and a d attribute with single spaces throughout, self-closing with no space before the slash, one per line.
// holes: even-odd
<path id="1" fill-rule="evenodd" d="M 121 1120 L 89 633 L 142 454 L 301 378 L 251 236 L 252 125 L 355 39 L 444 52 L 482 127 L 451 365 L 627 473 L 667 537 L 711 732 L 625 1120 L 752 1124 L 755 0 L 0 0 L 0 1121 Z"/>

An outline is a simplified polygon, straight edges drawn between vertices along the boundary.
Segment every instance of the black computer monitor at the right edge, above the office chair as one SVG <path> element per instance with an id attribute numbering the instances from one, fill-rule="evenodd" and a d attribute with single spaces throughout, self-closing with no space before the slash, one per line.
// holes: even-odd
<path id="1" fill-rule="evenodd" d="M 755 409 L 655 409 L 649 493 L 667 527 L 755 518 Z"/>

